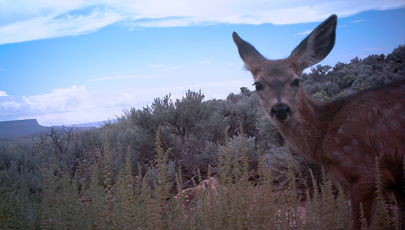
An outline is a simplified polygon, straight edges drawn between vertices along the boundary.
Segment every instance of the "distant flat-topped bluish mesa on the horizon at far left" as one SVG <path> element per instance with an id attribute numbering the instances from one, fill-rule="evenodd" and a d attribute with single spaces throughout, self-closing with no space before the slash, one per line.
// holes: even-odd
<path id="1" fill-rule="evenodd" d="M 49 127 L 38 124 L 37 119 L 0 122 L 0 139 L 24 137 L 48 130 Z"/>

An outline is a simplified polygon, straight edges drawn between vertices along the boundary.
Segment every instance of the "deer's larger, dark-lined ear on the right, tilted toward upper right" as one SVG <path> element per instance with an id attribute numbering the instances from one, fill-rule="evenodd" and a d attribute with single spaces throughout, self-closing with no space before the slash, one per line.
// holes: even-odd
<path id="1" fill-rule="evenodd" d="M 337 16 L 335 14 L 330 15 L 291 52 L 287 59 L 294 64 L 299 76 L 306 68 L 324 60 L 333 49 L 336 38 L 336 23 Z"/>

